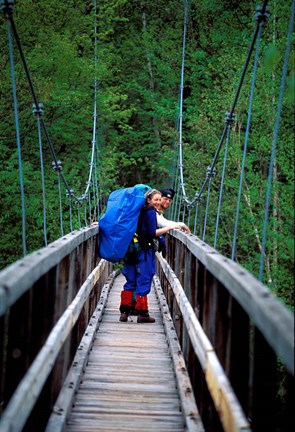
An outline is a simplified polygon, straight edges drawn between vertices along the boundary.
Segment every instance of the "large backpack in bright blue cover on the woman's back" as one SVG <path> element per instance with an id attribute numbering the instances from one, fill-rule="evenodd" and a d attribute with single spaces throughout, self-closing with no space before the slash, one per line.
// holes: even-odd
<path id="1" fill-rule="evenodd" d="M 113 191 L 106 212 L 99 219 L 98 255 L 113 263 L 124 258 L 137 228 L 144 194 L 149 186 L 138 184 Z"/>

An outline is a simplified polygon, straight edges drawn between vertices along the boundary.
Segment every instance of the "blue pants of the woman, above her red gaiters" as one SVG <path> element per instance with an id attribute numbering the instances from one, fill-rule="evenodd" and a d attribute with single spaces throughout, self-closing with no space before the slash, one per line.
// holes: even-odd
<path id="1" fill-rule="evenodd" d="M 122 273 L 126 278 L 124 290 L 135 291 L 136 295 L 146 296 L 156 272 L 156 257 L 152 249 L 141 251 L 138 264 L 125 264 Z"/>

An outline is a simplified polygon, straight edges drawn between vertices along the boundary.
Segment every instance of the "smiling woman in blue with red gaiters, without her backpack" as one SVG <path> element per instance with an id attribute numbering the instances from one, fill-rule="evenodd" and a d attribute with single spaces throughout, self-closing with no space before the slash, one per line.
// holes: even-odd
<path id="1" fill-rule="evenodd" d="M 154 323 L 155 319 L 149 315 L 147 295 L 151 290 L 151 283 L 156 271 L 155 251 L 158 250 L 157 237 L 166 234 L 171 229 L 180 229 L 180 225 L 157 228 L 157 210 L 160 208 L 161 192 L 151 189 L 145 193 L 145 204 L 140 212 L 137 225 L 137 241 L 140 251 L 136 261 L 125 260 L 122 273 L 126 283 L 121 292 L 120 318 L 122 322 L 128 320 L 132 307 L 133 293 L 136 294 L 136 311 L 138 323 Z"/>

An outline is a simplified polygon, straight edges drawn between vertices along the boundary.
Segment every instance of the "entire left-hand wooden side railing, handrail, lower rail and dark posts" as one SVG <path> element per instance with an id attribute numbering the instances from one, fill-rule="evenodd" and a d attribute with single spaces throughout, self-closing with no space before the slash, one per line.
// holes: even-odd
<path id="1" fill-rule="evenodd" d="M 111 273 L 98 260 L 97 232 L 74 231 L 0 273 L 3 432 L 45 430 Z"/>

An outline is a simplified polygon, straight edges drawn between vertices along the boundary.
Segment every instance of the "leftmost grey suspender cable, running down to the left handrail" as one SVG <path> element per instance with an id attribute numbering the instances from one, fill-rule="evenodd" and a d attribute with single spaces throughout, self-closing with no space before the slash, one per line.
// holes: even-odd
<path id="1" fill-rule="evenodd" d="M 22 205 L 23 255 L 25 256 L 27 254 L 25 193 L 24 193 L 24 183 L 23 183 L 23 165 L 22 165 L 22 155 L 21 155 L 20 130 L 19 130 L 19 122 L 18 122 L 18 103 L 17 103 L 17 95 L 16 95 L 13 45 L 12 45 L 10 20 L 8 20 L 8 43 L 9 43 L 9 58 L 10 58 L 11 81 L 12 81 L 12 94 L 13 94 L 13 101 L 14 101 L 14 119 L 15 119 L 15 130 L 16 130 L 17 152 L 18 152 L 19 182 L 20 182 L 21 205 Z"/>

